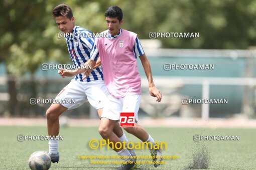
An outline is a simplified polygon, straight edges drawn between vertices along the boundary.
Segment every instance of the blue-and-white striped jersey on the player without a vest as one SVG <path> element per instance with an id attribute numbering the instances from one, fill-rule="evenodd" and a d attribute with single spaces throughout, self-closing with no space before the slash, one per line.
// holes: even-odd
<path id="1" fill-rule="evenodd" d="M 72 33 L 65 34 L 68 51 L 75 67 L 84 64 L 90 57 L 92 45 L 95 38 L 92 32 L 80 26 L 74 26 Z M 103 80 L 102 66 L 93 69 L 91 74 L 82 80 L 83 73 L 74 76 L 75 80 L 79 81 L 93 81 Z"/>

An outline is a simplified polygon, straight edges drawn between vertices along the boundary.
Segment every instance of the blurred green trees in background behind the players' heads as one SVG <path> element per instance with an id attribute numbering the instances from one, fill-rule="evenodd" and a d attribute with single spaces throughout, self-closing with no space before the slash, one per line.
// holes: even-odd
<path id="1" fill-rule="evenodd" d="M 31 75 L 36 97 L 35 71 L 41 63 L 71 63 L 66 42 L 51 12 L 67 3 L 75 24 L 93 32 L 106 29 L 104 11 L 110 5 L 123 10 L 122 27 L 138 33 L 199 32 L 200 38 L 160 38 L 164 48 L 246 49 L 256 43 L 255 0 L 2 0 L 0 62 L 6 65 L 9 111 L 17 112 L 16 77 Z"/>

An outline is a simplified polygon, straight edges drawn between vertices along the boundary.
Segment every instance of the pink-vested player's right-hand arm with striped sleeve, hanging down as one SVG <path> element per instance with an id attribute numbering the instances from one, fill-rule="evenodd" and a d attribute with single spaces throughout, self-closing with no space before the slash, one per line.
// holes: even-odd
<path id="1" fill-rule="evenodd" d="M 153 81 L 153 77 L 152 77 L 152 71 L 151 71 L 151 66 L 150 66 L 150 62 L 141 46 L 140 40 L 138 37 L 136 37 L 135 40 L 135 44 L 134 44 L 134 54 L 135 56 L 140 56 L 140 59 L 142 61 L 142 65 L 144 68 L 144 71 L 146 73 L 146 76 L 148 78 L 149 81 L 149 91 L 150 91 L 150 95 L 153 97 L 157 97 L 158 102 L 161 101 L 162 99 L 162 94 L 160 93 L 160 91 L 155 87 L 154 81 Z"/>

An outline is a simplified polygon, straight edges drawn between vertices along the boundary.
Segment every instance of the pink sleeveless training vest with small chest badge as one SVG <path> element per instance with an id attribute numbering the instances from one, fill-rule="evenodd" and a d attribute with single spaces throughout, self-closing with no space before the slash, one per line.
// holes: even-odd
<path id="1" fill-rule="evenodd" d="M 127 93 L 141 94 L 141 77 L 133 52 L 137 34 L 122 29 L 116 38 L 96 38 L 108 93 L 116 98 Z"/>

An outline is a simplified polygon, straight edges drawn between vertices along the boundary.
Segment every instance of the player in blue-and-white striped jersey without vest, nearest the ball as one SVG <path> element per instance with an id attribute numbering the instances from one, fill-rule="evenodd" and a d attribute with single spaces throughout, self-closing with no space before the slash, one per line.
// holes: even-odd
<path id="1" fill-rule="evenodd" d="M 52 15 L 56 20 L 58 28 L 66 33 L 65 39 L 73 64 L 76 67 L 81 66 L 89 59 L 91 48 L 94 44 L 94 38 L 86 36 L 91 34 L 91 32 L 74 24 L 75 19 L 72 10 L 67 4 L 57 5 L 53 9 Z M 75 70 L 61 69 L 58 73 L 62 77 L 74 76 L 74 79 L 59 92 L 56 99 L 61 99 L 61 101 L 75 99 L 75 103 L 53 103 L 47 109 L 46 116 L 49 136 L 57 136 L 59 134 L 59 115 L 65 110 L 79 107 L 87 98 L 89 103 L 97 109 L 99 117 L 101 117 L 103 105 L 107 99 L 107 87 L 104 83 L 100 62 L 93 67 L 91 75 L 87 76 L 84 80 L 82 79 L 83 74 L 76 73 Z M 114 129 L 115 135 L 120 141 L 125 140 L 128 142 L 118 123 L 115 124 Z M 129 152 L 135 155 L 133 150 L 129 149 Z M 49 141 L 48 153 L 53 163 L 59 161 L 58 140 Z"/>

